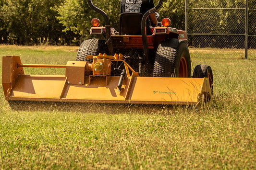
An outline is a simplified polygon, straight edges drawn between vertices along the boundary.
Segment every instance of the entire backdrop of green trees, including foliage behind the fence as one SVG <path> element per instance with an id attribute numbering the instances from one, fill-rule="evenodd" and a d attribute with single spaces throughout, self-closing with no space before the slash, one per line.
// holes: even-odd
<path id="1" fill-rule="evenodd" d="M 189 0 L 189 8 L 245 8 L 245 0 Z M 119 28 L 120 0 L 93 0 Z M 157 5 L 158 0 L 154 0 Z M 185 29 L 185 0 L 164 0 L 158 21 L 168 17 L 171 27 Z M 249 0 L 249 9 L 256 0 Z M 249 33 L 255 34 L 255 11 L 249 11 Z M 189 10 L 188 32 L 244 34 L 243 10 Z M 0 0 L 0 44 L 38 45 L 77 44 L 91 37 L 90 21 L 104 18 L 93 11 L 87 0 Z"/>

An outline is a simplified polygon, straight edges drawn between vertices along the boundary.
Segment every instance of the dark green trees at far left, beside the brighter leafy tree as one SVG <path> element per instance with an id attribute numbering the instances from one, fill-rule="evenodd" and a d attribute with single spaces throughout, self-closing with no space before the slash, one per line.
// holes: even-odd
<path id="1" fill-rule="evenodd" d="M 61 0 L 2 0 L 0 39 L 2 43 L 30 45 L 56 41 L 63 26 L 52 7 Z"/>

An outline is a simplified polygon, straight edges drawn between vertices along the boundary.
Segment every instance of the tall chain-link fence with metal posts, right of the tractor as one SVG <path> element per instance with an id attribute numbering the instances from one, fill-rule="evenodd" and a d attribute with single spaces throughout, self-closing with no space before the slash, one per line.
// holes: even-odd
<path id="1" fill-rule="evenodd" d="M 185 0 L 189 45 L 256 48 L 256 0 Z"/>

